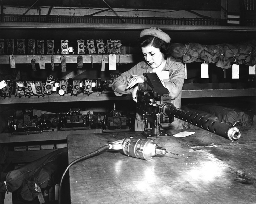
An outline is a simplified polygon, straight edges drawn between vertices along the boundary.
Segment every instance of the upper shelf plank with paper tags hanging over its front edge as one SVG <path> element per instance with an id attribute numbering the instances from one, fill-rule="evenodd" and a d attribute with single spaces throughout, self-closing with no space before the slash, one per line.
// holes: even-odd
<path id="1" fill-rule="evenodd" d="M 134 56 L 132 54 L 116 54 L 116 63 L 131 63 L 135 62 Z M 35 63 L 39 64 L 39 58 L 44 57 L 46 64 L 51 64 L 52 55 L 13 55 L 15 57 L 16 64 L 31 64 L 31 59 L 35 59 Z M 63 55 L 53 55 L 54 63 L 60 64 L 60 57 Z M 64 55 L 66 58 L 66 63 L 77 63 L 77 56 L 79 55 Z M 104 59 L 106 63 L 109 63 L 109 55 L 81 55 L 83 57 L 83 63 L 91 63 L 91 56 L 93 57 L 93 63 L 101 63 L 101 60 Z M 120 57 L 119 57 L 120 56 Z M 0 64 L 10 64 L 10 55 L 1 55 Z"/>

